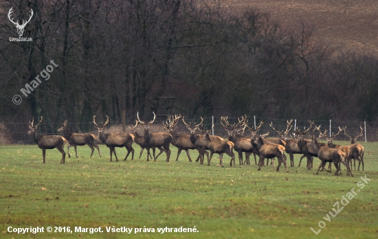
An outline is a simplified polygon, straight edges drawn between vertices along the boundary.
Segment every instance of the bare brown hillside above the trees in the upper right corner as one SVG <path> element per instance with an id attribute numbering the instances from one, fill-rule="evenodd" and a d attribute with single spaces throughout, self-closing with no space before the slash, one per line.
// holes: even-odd
<path id="1" fill-rule="evenodd" d="M 283 27 L 301 20 L 329 43 L 358 52 L 378 54 L 378 1 L 376 0 L 225 0 L 236 10 L 247 7 L 269 12 Z"/>

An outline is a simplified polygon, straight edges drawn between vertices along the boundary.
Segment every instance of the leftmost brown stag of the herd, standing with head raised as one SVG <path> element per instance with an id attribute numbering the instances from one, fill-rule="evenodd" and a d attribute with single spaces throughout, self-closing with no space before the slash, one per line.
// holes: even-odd
<path id="1" fill-rule="evenodd" d="M 62 159 L 60 163 L 65 163 L 65 142 L 67 139 L 60 135 L 41 135 L 38 133 L 38 125 L 41 124 L 43 117 L 41 116 L 41 120 L 37 125 L 34 126 L 34 117 L 32 122 L 29 122 L 30 130 L 27 132 L 27 135 L 32 135 L 34 142 L 38 145 L 38 148 L 41 148 L 42 155 L 43 155 L 43 163 L 46 163 L 45 155 L 47 149 L 57 148 L 59 152 L 62 153 Z"/>

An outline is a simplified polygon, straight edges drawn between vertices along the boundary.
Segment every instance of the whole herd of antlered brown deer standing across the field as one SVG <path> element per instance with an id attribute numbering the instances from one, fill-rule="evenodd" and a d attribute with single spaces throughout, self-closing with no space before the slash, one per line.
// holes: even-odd
<path id="1" fill-rule="evenodd" d="M 341 163 L 346 166 L 346 173 L 353 174 L 351 172 L 352 168 L 352 159 L 354 159 L 354 168 L 355 161 L 358 161 L 358 170 L 359 166 L 362 163 L 362 170 L 364 170 L 364 147 L 361 144 L 356 144 L 356 140 L 358 137 L 362 136 L 362 127 L 361 133 L 357 137 L 351 137 L 346 133 L 346 126 L 344 128 L 339 127 L 339 131 L 336 134 L 330 135 L 327 137 L 326 133 L 327 130 L 322 132 L 320 130 L 320 126 L 314 126 L 314 122 L 309 121 L 309 128 L 306 130 L 300 130 L 297 128 L 293 130 L 292 122 L 287 121 L 287 128 L 285 131 L 276 130 L 273 124 L 269 124 L 269 126 L 278 133 L 279 137 L 277 138 L 266 138 L 269 135 L 269 132 L 265 135 L 258 134 L 258 130 L 262 126 L 263 122 L 260 122 L 260 125 L 255 128 L 250 128 L 247 126 L 247 117 L 241 117 L 241 120 L 238 119 L 238 122 L 234 124 L 230 124 L 228 122 L 227 117 L 221 117 L 221 125 L 228 134 L 228 140 L 224 140 L 222 137 L 216 135 L 210 135 L 212 128 L 208 131 L 203 131 L 200 127 L 203 125 L 203 118 L 201 117 L 201 122 L 199 124 L 195 124 L 194 122 L 190 122 L 187 124 L 182 117 L 182 122 L 184 122 L 186 128 L 190 131 L 190 134 L 186 133 L 177 133 L 175 132 L 174 128 L 181 119 L 181 115 L 175 115 L 175 117 L 169 115 L 166 122 L 163 122 L 164 129 L 167 132 L 159 132 L 159 133 L 151 133 L 150 126 L 155 122 L 155 113 L 153 120 L 151 122 L 143 122 L 140 120 L 139 115 L 137 114 L 137 120 L 135 120 L 135 125 L 129 126 L 131 133 L 103 133 L 104 127 L 109 123 L 109 117 L 107 116 L 107 121 L 101 124 L 96 123 L 96 116 L 93 116 L 93 124 L 98 129 L 98 139 L 102 141 L 110 149 L 110 161 L 112 161 L 112 156 L 114 152 L 114 156 L 116 161 L 118 161 L 118 157 L 115 153 L 115 147 L 126 147 L 127 154 L 124 160 L 129 157 L 131 152 L 131 159 L 134 158 L 134 149 L 132 147 L 133 142 L 138 144 L 142 150 L 140 151 L 140 157 L 142 156 L 142 152 L 144 149 L 147 151 L 147 161 L 153 158 L 156 161 L 157 157 L 159 157 L 162 152 L 166 153 L 166 161 L 170 159 L 170 144 L 178 148 L 176 161 L 179 159 L 179 155 L 181 150 L 185 150 L 186 154 L 188 155 L 189 161 L 192 161 L 190 158 L 189 150 L 197 150 L 199 152 L 199 156 L 197 157 L 196 161 L 200 161 L 203 164 L 204 155 L 206 155 L 208 159 L 208 165 L 210 165 L 210 161 L 212 159 L 212 155 L 214 153 L 219 154 L 220 159 L 220 166 L 223 167 L 223 154 L 229 155 L 232 159 L 230 161 L 230 166 L 235 167 L 235 155 L 234 150 L 238 152 L 239 164 L 243 165 L 244 163 L 250 164 L 249 156 L 254 155 L 255 164 L 258 164 L 258 170 L 260 170 L 261 166 L 265 166 L 265 159 L 271 159 L 271 165 L 274 168 L 274 158 L 278 159 L 278 167 L 276 170 L 278 171 L 280 165 L 283 164 L 285 166 L 285 170 L 287 171 L 286 166 L 286 155 L 289 154 L 290 159 L 290 166 L 294 166 L 293 155 L 300 154 L 302 157 L 300 158 L 300 163 L 304 157 L 307 158 L 307 169 L 311 170 L 313 167 L 313 157 L 318 157 L 321 160 L 320 166 L 318 168 L 319 173 L 320 169 L 326 170 L 325 166 L 326 163 L 329 162 L 329 170 L 327 172 L 331 172 L 331 163 L 335 165 L 336 172 L 335 175 L 340 172 L 341 174 Z M 34 126 L 34 119 L 30 122 L 30 130 L 28 132 L 29 135 L 32 135 L 38 147 L 42 149 L 43 152 L 43 163 L 45 163 L 45 150 L 57 148 L 62 153 L 62 159 L 60 163 L 65 163 L 65 151 L 63 147 L 65 143 L 68 141 L 69 146 L 67 147 L 68 157 L 69 155 L 69 148 L 74 146 L 76 157 L 78 157 L 78 153 L 76 150 L 76 146 L 84 146 L 88 145 L 91 148 L 91 157 L 94 152 L 94 148 L 97 148 L 98 155 L 100 155 L 100 148 L 95 143 L 95 135 L 91 133 L 71 133 L 69 128 L 67 127 L 67 120 L 63 123 L 63 126 L 58 129 L 58 132 L 63 133 L 63 137 L 60 135 L 41 135 L 37 132 L 38 125 L 41 124 L 43 117 L 41 117 L 41 121 Z M 144 127 L 144 135 L 139 135 L 135 128 L 138 124 L 142 124 Z M 243 137 L 245 133 L 245 129 L 248 128 L 251 137 Z M 197 134 L 197 131 L 201 131 L 203 134 Z M 339 135 L 342 131 L 344 131 L 344 135 L 351 139 L 351 144 L 348 146 L 340 146 L 333 144 L 333 139 Z M 316 137 L 315 134 L 319 133 L 319 137 Z M 308 134 L 311 139 L 304 139 L 304 136 Z M 327 143 L 318 142 L 320 138 L 325 138 Z M 150 149 L 153 150 L 153 157 L 151 156 Z M 159 149 L 160 152 L 158 155 L 155 155 L 155 149 Z M 208 151 L 210 151 L 210 157 Z M 243 161 L 243 152 L 245 153 L 245 161 Z M 256 161 L 256 155 L 259 157 L 259 161 Z M 298 164 L 298 167 L 300 166 Z M 267 161 L 268 164 L 268 161 Z M 349 166 L 349 164 L 351 166 Z M 287 171 L 288 172 L 288 171 Z"/>

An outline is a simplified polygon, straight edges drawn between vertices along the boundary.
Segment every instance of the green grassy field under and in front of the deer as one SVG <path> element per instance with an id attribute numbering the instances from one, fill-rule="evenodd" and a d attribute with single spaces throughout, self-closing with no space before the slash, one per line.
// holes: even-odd
<path id="1" fill-rule="evenodd" d="M 342 177 L 333 175 L 334 168 L 331 174 L 315 175 L 316 158 L 313 170 L 302 162 L 287 173 L 271 166 L 261 171 L 255 165 L 230 168 L 228 156 L 225 168 L 217 166 L 217 157 L 211 166 L 190 163 L 185 153 L 174 161 L 173 146 L 169 163 L 163 155 L 156 162 L 137 159 L 139 146 L 134 146 L 133 161 L 129 156 L 110 162 L 105 146 L 100 146 L 102 157 L 95 152 L 91 158 L 89 147 L 83 146 L 79 158 L 67 157 L 65 164 L 59 164 L 58 150 L 47 150 L 43 164 L 36 145 L 1 145 L 0 238 L 377 238 L 378 144 L 362 144 L 365 171 L 353 171 L 355 177 L 347 177 L 344 166 Z M 123 159 L 126 149 L 117 152 Z M 195 159 L 197 152 L 190 152 Z M 366 185 L 360 177 L 371 181 Z M 337 210 L 335 203 L 341 208 L 342 196 L 353 188 L 357 195 L 328 219 Z M 324 226 L 320 221 L 325 227 L 315 235 L 310 227 L 318 231 Z M 45 232 L 17 234 L 8 227 L 44 227 Z M 101 227 L 104 232 L 49 233 L 47 227 Z M 107 232 L 107 227 L 142 229 L 127 234 Z M 195 227 L 198 232 L 157 231 L 165 227 Z"/>

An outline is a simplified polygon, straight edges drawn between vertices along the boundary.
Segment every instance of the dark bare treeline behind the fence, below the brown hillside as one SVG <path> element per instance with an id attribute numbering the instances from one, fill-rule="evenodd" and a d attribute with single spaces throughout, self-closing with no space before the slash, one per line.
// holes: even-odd
<path id="1" fill-rule="evenodd" d="M 19 23 L 34 11 L 23 33 L 32 41 L 10 41 L 18 36 L 10 8 Z M 121 122 L 139 111 L 148 120 L 149 100 L 166 96 L 188 117 L 378 117 L 378 58 L 323 41 L 309 23 L 287 30 L 265 12 L 214 0 L 0 0 L 0 12 L 0 122 L 8 128 L 40 115 L 51 133 L 49 122 L 65 120 L 89 131 L 93 115 Z M 25 97 L 20 89 L 50 60 L 58 67 Z"/>

